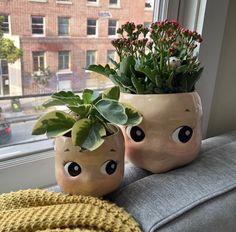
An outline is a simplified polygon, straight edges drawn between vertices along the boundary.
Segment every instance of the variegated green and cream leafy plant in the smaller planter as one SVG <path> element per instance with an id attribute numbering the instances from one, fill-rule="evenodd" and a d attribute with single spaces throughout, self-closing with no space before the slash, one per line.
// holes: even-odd
<path id="1" fill-rule="evenodd" d="M 55 110 L 45 114 L 35 123 L 32 134 L 69 136 L 74 145 L 95 150 L 114 133 L 112 124 L 137 125 L 142 121 L 134 108 L 119 102 L 119 97 L 117 86 L 102 93 L 85 89 L 82 97 L 70 91 L 55 93 L 43 106 L 65 105 L 68 112 Z"/>

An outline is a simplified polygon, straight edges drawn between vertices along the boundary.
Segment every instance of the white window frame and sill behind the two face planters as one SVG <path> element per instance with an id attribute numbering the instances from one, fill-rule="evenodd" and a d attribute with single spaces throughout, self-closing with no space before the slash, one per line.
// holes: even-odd
<path id="1" fill-rule="evenodd" d="M 185 22 L 187 21 L 191 22 L 192 20 L 196 20 L 194 23 L 192 22 L 192 25 L 195 25 L 198 32 L 203 35 L 204 43 L 200 46 L 199 56 L 201 61 L 203 61 L 204 63 L 205 69 L 199 81 L 199 84 L 197 85 L 197 91 L 199 92 L 202 99 L 204 99 L 202 103 L 205 115 L 203 115 L 203 136 L 205 136 L 209 121 L 212 98 L 214 94 L 214 85 L 217 75 L 218 62 L 221 52 L 220 49 L 223 40 L 223 31 L 225 27 L 229 0 L 198 0 L 200 1 L 199 12 L 204 12 L 205 9 L 206 11 L 204 15 L 196 13 L 195 19 L 190 17 L 188 13 L 186 14 L 186 11 L 184 10 L 186 4 L 189 4 L 189 9 L 194 9 L 193 1 L 181 0 L 181 4 L 178 5 L 178 9 L 174 9 L 174 7 L 171 6 L 172 4 L 168 4 L 171 2 L 173 3 L 173 5 L 175 5 L 176 1 L 179 2 L 179 0 L 155 1 L 154 21 L 163 20 L 165 18 L 177 19 L 179 17 L 179 19 L 183 20 L 181 23 L 185 24 Z M 163 8 L 163 13 L 160 13 L 161 5 L 167 7 Z M 220 17 L 218 17 L 219 14 L 217 14 L 216 12 L 220 12 Z M 165 15 L 167 17 L 165 17 Z M 212 31 L 212 28 L 215 28 L 216 30 Z M 43 148 L 45 148 L 45 146 L 43 146 Z M 8 154 L 8 157 L 5 157 L 5 159 L 1 155 L 1 191 L 8 192 L 25 188 L 40 188 L 56 184 L 54 175 L 54 152 L 52 150 L 52 142 L 50 142 L 50 145 L 48 145 L 47 149 L 48 150 L 37 150 L 21 155 L 12 153 Z M 29 175 L 29 173 L 31 173 L 31 175 Z"/>

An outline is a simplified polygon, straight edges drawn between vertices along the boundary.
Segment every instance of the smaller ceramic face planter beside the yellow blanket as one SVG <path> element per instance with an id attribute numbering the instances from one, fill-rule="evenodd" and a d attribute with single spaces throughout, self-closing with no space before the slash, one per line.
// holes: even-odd
<path id="1" fill-rule="evenodd" d="M 80 151 L 71 138 L 55 140 L 56 179 L 62 191 L 100 197 L 115 190 L 124 173 L 124 138 L 122 132 L 105 138 L 94 151 Z"/>

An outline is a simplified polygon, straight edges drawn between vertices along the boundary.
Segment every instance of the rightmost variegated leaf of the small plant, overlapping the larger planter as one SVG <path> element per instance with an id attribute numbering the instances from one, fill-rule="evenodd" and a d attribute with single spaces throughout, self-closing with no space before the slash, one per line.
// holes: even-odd
<path id="1" fill-rule="evenodd" d="M 136 126 L 143 120 L 143 116 L 132 106 L 122 103 L 125 108 L 125 113 L 128 116 L 128 121 L 125 123 L 126 126 Z"/>

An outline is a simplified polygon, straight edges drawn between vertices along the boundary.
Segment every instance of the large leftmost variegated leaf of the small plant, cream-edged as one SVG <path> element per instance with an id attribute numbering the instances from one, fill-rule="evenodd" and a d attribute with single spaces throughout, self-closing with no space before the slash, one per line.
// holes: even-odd
<path id="1" fill-rule="evenodd" d="M 38 119 L 32 129 L 32 135 L 45 133 L 48 137 L 64 135 L 71 131 L 75 122 L 75 119 L 68 113 L 52 111 Z"/>

